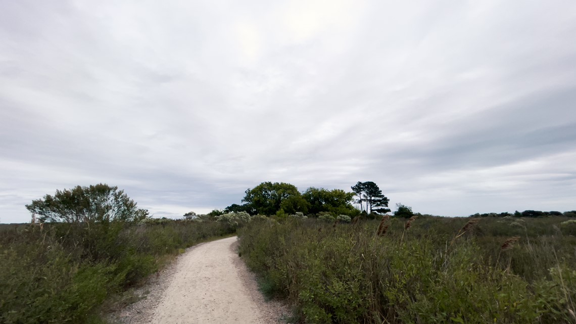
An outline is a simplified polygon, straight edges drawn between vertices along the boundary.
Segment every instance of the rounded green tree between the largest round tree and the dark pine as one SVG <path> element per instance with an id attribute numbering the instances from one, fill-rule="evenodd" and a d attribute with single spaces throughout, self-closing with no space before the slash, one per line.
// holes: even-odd
<path id="1" fill-rule="evenodd" d="M 309 187 L 304 191 L 302 197 L 308 202 L 308 212 L 312 214 L 329 212 L 350 216 L 358 213 L 358 209 L 352 205 L 354 193 L 347 193 L 341 189 L 326 190 Z"/>

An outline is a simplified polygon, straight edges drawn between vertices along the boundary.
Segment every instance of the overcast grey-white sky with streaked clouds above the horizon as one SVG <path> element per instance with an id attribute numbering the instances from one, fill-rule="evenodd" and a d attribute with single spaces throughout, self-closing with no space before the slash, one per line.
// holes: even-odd
<path id="1" fill-rule="evenodd" d="M 0 222 L 96 183 L 154 217 L 264 181 L 574 210 L 575 35 L 573 0 L 0 0 Z"/>

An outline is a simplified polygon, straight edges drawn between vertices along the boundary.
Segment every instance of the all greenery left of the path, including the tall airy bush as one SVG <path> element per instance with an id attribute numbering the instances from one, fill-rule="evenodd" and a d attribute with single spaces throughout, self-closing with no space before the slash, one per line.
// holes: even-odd
<path id="1" fill-rule="evenodd" d="M 27 207 L 53 223 L 0 226 L 0 323 L 101 322 L 105 300 L 183 248 L 243 224 L 233 216 L 143 218 L 106 184 L 56 191 Z"/>

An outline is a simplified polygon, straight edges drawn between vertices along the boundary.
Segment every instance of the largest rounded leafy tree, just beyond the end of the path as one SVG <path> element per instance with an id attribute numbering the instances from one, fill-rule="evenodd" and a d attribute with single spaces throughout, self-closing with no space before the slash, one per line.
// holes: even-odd
<path id="1" fill-rule="evenodd" d="M 290 183 L 263 182 L 253 189 L 247 189 L 245 194 L 242 202 L 249 206 L 252 213 L 273 215 L 281 210 L 288 214 L 308 212 L 308 203 Z"/>

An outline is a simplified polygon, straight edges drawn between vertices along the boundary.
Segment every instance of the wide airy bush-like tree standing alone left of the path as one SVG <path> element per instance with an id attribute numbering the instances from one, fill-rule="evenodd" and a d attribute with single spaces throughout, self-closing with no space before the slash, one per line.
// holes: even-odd
<path id="1" fill-rule="evenodd" d="M 148 210 L 137 204 L 118 187 L 99 183 L 89 187 L 56 190 L 43 199 L 26 205 L 33 216 L 41 222 L 108 223 L 110 221 L 137 221 L 148 216 Z"/>

